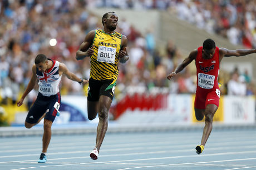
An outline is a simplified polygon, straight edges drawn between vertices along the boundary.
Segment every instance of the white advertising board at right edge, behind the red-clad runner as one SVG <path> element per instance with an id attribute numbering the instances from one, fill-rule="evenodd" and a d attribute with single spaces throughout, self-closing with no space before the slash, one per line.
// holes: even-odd
<path id="1" fill-rule="evenodd" d="M 255 98 L 224 96 L 224 123 L 255 123 Z"/>

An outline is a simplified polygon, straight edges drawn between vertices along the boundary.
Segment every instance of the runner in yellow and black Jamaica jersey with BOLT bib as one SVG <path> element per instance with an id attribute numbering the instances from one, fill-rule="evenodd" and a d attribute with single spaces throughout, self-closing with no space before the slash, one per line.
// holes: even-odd
<path id="1" fill-rule="evenodd" d="M 115 32 L 118 17 L 115 12 L 105 13 L 102 17 L 104 29 L 90 31 L 76 52 L 76 59 L 91 57 L 91 71 L 88 86 L 87 111 L 92 120 L 99 114 L 96 145 L 90 154 L 98 158 L 107 131 L 107 117 L 114 97 L 116 80 L 119 73 L 117 63 L 128 59 L 127 38 Z"/>

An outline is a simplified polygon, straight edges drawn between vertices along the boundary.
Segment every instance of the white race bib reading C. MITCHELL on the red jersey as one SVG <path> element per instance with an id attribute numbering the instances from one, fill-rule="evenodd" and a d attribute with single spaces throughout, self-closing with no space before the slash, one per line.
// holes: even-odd
<path id="1" fill-rule="evenodd" d="M 211 89 L 214 85 L 215 76 L 198 73 L 198 86 L 205 89 Z"/>

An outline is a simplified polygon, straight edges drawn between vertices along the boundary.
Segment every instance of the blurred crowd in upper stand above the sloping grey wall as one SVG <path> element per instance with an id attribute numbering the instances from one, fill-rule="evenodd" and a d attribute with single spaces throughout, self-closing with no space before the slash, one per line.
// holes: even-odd
<path id="1" fill-rule="evenodd" d="M 91 7 L 159 9 L 176 14 L 233 44 L 256 48 L 256 1 L 252 0 L 88 0 Z"/>

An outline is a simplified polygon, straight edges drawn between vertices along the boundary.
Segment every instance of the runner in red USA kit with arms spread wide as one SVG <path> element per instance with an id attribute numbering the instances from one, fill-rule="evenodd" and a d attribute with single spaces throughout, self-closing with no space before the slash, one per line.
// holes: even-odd
<path id="1" fill-rule="evenodd" d="M 205 126 L 201 144 L 196 146 L 196 153 L 204 150 L 205 143 L 213 129 L 213 116 L 219 107 L 220 91 L 218 87 L 219 65 L 223 57 L 240 57 L 256 53 L 256 49 L 229 50 L 218 48 L 212 39 L 206 39 L 203 47 L 194 49 L 189 56 L 179 64 L 174 72 L 168 75 L 170 80 L 182 71 L 189 63 L 195 60 L 197 87 L 195 94 L 195 117 L 201 121 L 205 116 Z"/>

